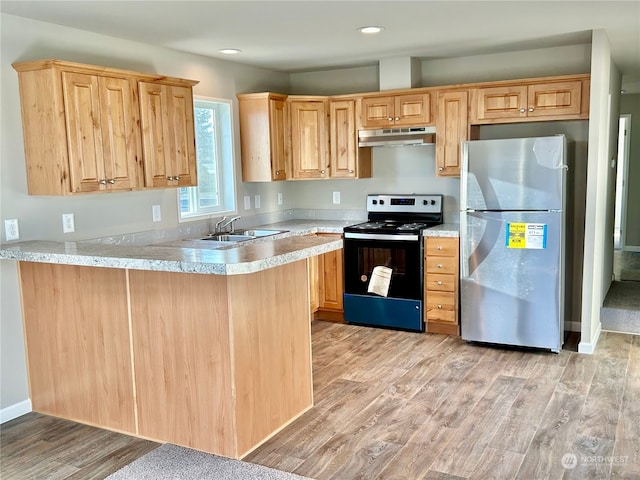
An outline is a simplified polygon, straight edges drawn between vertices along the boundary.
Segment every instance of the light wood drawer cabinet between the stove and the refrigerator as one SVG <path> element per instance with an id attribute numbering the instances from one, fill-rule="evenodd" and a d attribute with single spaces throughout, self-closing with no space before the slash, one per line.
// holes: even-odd
<path id="1" fill-rule="evenodd" d="M 458 238 L 425 238 L 424 322 L 427 332 L 460 334 L 459 258 Z"/>

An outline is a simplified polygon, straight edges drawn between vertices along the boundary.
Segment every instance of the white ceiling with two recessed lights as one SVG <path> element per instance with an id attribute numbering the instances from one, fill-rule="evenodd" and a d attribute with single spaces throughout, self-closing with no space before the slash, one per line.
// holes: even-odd
<path id="1" fill-rule="evenodd" d="M 604 29 L 622 74 L 640 78 L 640 0 L 2 0 L 0 11 L 287 72 L 581 44 Z M 242 53 L 217 53 L 229 47 Z"/>

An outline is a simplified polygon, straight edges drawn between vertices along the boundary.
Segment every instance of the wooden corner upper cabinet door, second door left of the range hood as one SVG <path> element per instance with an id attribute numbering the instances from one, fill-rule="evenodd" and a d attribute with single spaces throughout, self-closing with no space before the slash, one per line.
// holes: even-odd
<path id="1" fill-rule="evenodd" d="M 293 178 L 325 178 L 328 176 L 327 124 L 325 102 L 292 101 L 291 163 Z"/>

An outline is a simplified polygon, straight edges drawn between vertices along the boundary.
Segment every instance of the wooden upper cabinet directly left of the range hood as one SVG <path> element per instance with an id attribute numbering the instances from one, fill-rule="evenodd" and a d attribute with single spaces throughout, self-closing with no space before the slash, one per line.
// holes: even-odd
<path id="1" fill-rule="evenodd" d="M 371 177 L 371 147 L 358 148 L 356 100 L 329 101 L 329 144 L 331 178 Z"/>

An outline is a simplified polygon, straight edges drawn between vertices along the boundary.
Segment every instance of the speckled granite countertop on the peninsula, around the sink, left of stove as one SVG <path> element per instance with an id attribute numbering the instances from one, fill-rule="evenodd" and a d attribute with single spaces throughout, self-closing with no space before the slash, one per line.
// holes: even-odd
<path id="1" fill-rule="evenodd" d="M 342 239 L 313 236 L 342 233 L 354 222 L 293 220 L 260 229 L 288 232 L 247 242 L 220 244 L 186 239 L 148 245 L 114 245 L 94 241 L 29 241 L 5 244 L 0 259 L 92 267 L 236 275 L 254 273 L 342 248 Z M 216 245 L 214 245 L 216 244 Z"/>

